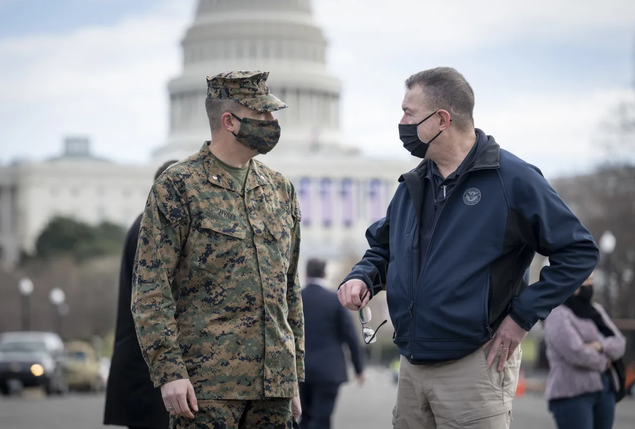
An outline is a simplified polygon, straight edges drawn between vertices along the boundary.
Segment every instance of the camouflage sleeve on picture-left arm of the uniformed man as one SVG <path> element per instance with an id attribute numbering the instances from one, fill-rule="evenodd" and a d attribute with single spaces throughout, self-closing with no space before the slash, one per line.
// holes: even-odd
<path id="1" fill-rule="evenodd" d="M 171 281 L 189 230 L 187 205 L 170 178 L 156 182 L 141 221 L 131 310 L 155 387 L 188 378 L 177 343 Z"/>

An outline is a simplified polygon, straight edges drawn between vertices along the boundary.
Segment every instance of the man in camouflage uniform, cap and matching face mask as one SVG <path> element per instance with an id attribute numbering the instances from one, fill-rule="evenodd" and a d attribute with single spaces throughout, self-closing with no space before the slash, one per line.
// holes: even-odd
<path id="1" fill-rule="evenodd" d="M 167 169 L 145 207 L 132 312 L 173 429 L 290 428 L 300 415 L 300 208 L 253 159 L 287 107 L 268 76 L 207 78 L 211 142 Z"/>

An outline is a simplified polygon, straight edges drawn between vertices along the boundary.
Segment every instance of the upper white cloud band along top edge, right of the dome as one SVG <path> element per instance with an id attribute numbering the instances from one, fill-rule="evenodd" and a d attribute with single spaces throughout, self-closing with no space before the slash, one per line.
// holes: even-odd
<path id="1" fill-rule="evenodd" d="M 335 46 L 333 55 L 364 53 L 364 58 L 368 54 L 379 60 L 632 27 L 635 18 L 635 3 L 623 0 L 606 0 L 601 6 L 592 0 L 319 0 L 313 5 Z M 337 43 L 335 38 L 343 34 L 346 43 Z"/>

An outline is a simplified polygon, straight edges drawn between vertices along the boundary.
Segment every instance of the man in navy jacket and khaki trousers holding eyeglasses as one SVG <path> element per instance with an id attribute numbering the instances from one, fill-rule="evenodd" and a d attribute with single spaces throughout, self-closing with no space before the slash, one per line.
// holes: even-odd
<path id="1" fill-rule="evenodd" d="M 438 67 L 405 86 L 399 138 L 424 161 L 399 178 L 338 297 L 358 311 L 386 291 L 401 353 L 394 428 L 509 428 L 521 341 L 599 250 L 538 168 L 474 128 L 462 74 Z M 550 265 L 528 285 L 536 252 Z"/>

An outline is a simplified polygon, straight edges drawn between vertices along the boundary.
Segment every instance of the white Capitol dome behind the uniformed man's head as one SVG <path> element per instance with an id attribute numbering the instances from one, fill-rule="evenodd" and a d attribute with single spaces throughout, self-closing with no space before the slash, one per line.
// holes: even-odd
<path id="1" fill-rule="evenodd" d="M 199 0 L 182 47 L 184 71 L 168 85 L 170 136 L 157 160 L 186 157 L 209 139 L 205 77 L 229 70 L 270 72 L 271 92 L 289 106 L 275 114 L 283 131 L 269 157 L 337 150 L 340 82 L 326 71 L 309 0 Z"/>

